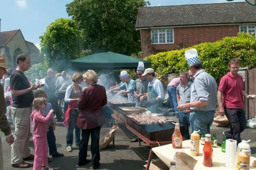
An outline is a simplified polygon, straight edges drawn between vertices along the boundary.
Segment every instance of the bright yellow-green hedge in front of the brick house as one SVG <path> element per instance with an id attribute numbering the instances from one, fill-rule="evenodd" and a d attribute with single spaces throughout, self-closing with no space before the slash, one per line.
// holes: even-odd
<path id="1" fill-rule="evenodd" d="M 240 60 L 241 67 L 256 67 L 256 38 L 254 35 L 244 33 L 238 33 L 236 37 L 225 37 L 214 43 L 202 43 L 181 50 L 157 53 L 145 59 L 151 62 L 157 77 L 166 86 L 168 74 L 179 74 L 182 70 L 188 70 L 185 51 L 191 48 L 196 48 L 203 68 L 217 80 L 217 83 L 227 74 L 228 61 L 233 58 Z"/>

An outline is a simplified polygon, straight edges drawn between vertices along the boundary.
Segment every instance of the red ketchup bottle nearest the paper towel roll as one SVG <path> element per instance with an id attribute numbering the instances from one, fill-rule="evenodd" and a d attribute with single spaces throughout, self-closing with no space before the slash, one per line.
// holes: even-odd
<path id="1" fill-rule="evenodd" d="M 211 135 L 206 134 L 205 135 L 205 143 L 204 143 L 204 149 L 203 149 L 203 155 L 204 155 L 204 161 L 203 165 L 211 167 L 212 166 L 212 144 L 211 144 Z"/>

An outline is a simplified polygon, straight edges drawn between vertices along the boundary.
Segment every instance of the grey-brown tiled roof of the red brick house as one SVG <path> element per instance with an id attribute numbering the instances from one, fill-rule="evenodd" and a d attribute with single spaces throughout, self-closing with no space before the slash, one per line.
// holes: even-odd
<path id="1" fill-rule="evenodd" d="M 140 7 L 135 28 L 256 22 L 246 2 Z"/>

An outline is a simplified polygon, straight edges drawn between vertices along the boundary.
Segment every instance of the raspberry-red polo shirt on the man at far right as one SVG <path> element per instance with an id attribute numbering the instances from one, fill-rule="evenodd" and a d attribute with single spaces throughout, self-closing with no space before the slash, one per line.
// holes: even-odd
<path id="1" fill-rule="evenodd" d="M 230 72 L 220 79 L 218 91 L 223 93 L 223 106 L 232 109 L 243 109 L 243 77 L 238 75 L 233 77 Z"/>

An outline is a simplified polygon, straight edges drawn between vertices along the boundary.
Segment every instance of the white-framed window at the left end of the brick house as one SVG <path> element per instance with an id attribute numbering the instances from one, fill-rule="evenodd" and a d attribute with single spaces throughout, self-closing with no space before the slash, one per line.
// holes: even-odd
<path id="1" fill-rule="evenodd" d="M 151 30 L 151 44 L 173 44 L 173 29 L 153 29 Z"/>

